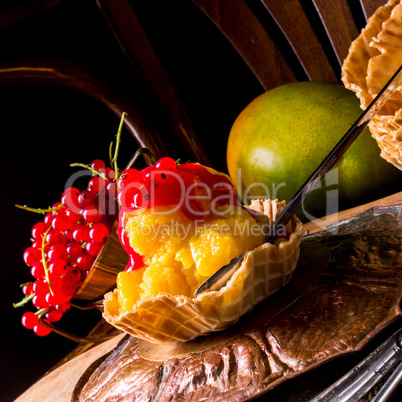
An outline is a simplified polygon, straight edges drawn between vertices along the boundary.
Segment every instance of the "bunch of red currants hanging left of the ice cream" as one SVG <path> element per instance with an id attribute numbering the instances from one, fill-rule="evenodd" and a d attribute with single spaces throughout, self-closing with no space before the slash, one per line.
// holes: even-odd
<path id="1" fill-rule="evenodd" d="M 33 279 L 22 285 L 25 297 L 14 306 L 32 301 L 37 311 L 24 313 L 22 325 L 39 336 L 51 331 L 39 313 L 53 307 L 45 318 L 51 323 L 69 310 L 118 215 L 115 171 L 99 159 L 84 166 L 94 173 L 85 189 L 67 188 L 47 210 L 23 207 L 45 215 L 32 227 L 32 244 L 23 253 Z"/>

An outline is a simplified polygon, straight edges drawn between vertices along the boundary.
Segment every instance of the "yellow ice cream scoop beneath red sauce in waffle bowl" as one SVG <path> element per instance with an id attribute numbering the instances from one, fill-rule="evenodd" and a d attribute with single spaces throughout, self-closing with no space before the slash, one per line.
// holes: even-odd
<path id="1" fill-rule="evenodd" d="M 202 222 L 170 210 L 126 216 L 130 247 L 143 256 L 146 265 L 119 273 L 120 313 L 159 293 L 191 297 L 219 268 L 264 242 L 267 218 L 252 216 L 240 206 L 221 206 Z"/>

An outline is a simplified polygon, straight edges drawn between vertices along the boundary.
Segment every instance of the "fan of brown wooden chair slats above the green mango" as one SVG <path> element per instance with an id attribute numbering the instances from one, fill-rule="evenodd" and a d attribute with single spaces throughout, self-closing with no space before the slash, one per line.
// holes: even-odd
<path id="1" fill-rule="evenodd" d="M 265 90 L 295 80 L 340 82 L 366 19 L 386 0 L 193 0 L 246 60 Z"/>

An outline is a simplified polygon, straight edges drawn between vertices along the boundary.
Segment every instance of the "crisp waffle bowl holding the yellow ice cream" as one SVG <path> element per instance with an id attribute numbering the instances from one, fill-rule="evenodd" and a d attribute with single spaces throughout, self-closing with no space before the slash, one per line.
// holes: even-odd
<path id="1" fill-rule="evenodd" d="M 265 200 L 252 202 L 250 208 L 274 220 L 284 205 Z M 114 290 L 105 294 L 103 317 L 114 327 L 152 343 L 184 342 L 228 328 L 292 277 L 303 232 L 296 216 L 288 230 L 288 239 L 246 252 L 238 270 L 219 291 L 196 298 L 160 293 L 137 301 L 131 311 L 119 313 Z"/>

